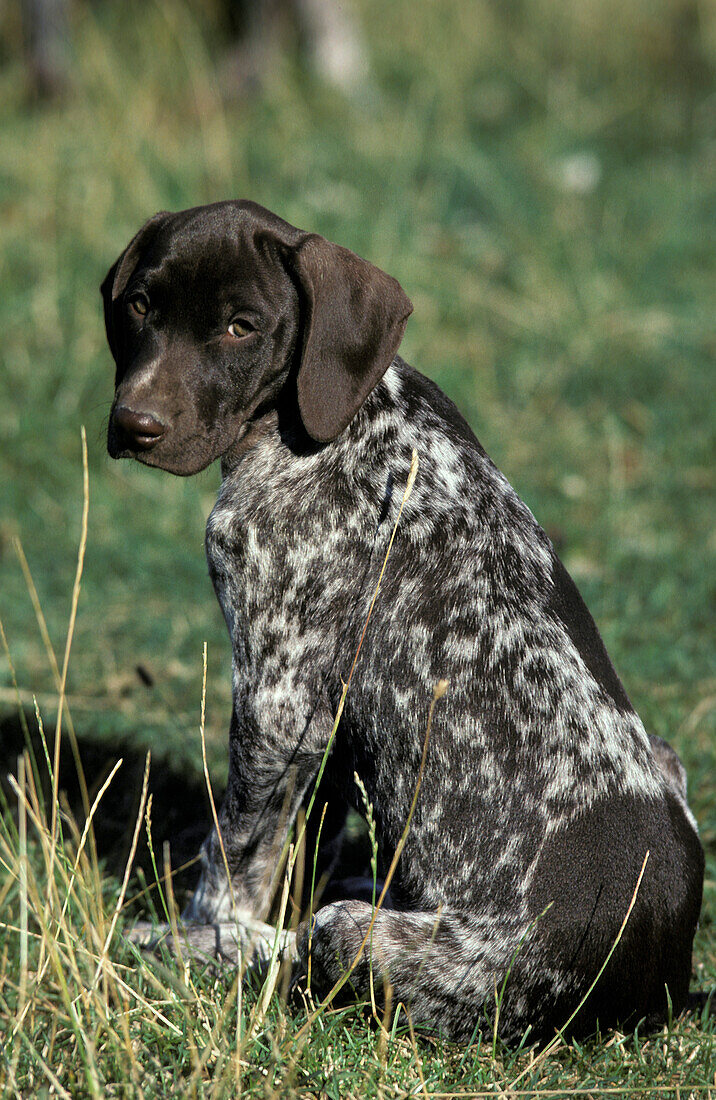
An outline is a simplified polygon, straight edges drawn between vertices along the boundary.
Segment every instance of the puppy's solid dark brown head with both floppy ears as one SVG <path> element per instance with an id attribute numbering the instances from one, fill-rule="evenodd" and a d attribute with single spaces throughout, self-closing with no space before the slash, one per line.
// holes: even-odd
<path id="1" fill-rule="evenodd" d="M 117 363 L 109 452 L 176 474 L 225 454 L 282 395 L 313 440 L 334 439 L 412 309 L 389 275 L 254 202 L 150 218 L 102 296 Z"/>

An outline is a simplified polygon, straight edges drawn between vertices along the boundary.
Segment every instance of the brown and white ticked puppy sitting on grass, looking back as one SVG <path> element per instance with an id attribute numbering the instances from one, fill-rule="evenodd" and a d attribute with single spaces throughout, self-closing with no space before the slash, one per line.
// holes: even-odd
<path id="1" fill-rule="evenodd" d="M 372 966 L 416 1022 L 467 1041 L 683 1007 L 703 853 L 670 747 L 645 733 L 550 540 L 454 405 L 396 353 L 411 305 L 359 256 L 253 202 L 157 213 L 103 285 L 109 453 L 189 475 L 221 459 L 207 556 L 233 648 L 229 787 L 186 916 L 265 916 L 312 789 L 373 803 L 385 871 Z M 235 905 L 235 909 L 234 909 Z M 372 906 L 299 926 L 330 989 Z M 351 976 L 368 989 L 368 955 Z M 504 987 L 504 988 L 503 988 Z"/>

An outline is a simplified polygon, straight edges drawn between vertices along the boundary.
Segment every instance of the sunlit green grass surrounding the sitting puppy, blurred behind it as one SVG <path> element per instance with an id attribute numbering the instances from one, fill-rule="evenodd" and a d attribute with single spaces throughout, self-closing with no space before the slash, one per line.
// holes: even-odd
<path id="1" fill-rule="evenodd" d="M 711 989 L 716 6 L 356 8 L 373 65 L 365 94 L 344 99 L 284 59 L 260 96 L 234 103 L 222 101 L 216 21 L 199 18 L 198 6 L 78 6 L 71 88 L 48 108 L 26 102 L 16 16 L 0 16 L 9 44 L 0 58 L 0 618 L 22 698 L 32 707 L 36 695 L 52 725 L 55 683 L 15 539 L 60 656 L 84 425 L 89 537 L 67 685 L 78 736 L 103 739 L 108 755 L 120 741 L 148 746 L 155 767 L 165 758 L 198 772 L 206 639 L 207 739 L 221 781 L 229 651 L 202 550 L 219 475 L 181 481 L 107 458 L 112 370 L 98 286 L 155 210 L 254 198 L 400 279 L 416 307 L 405 356 L 458 402 L 557 539 L 648 729 L 684 759 L 707 854 L 694 986 Z M 12 713 L 0 653 L 0 719 Z M 32 827 L 29 843 L 42 879 Z M 18 840 L 8 834 L 7 844 L 0 920 L 18 926 Z M 231 976 L 192 975 L 192 988 L 168 966 L 157 978 L 115 941 L 117 972 L 162 1002 L 180 1036 L 130 999 L 125 1042 L 118 1021 L 130 994 L 113 978 L 101 997 L 78 1002 L 80 1035 L 68 1005 L 93 974 L 88 922 L 108 924 L 119 890 L 110 877 L 97 881 L 91 861 L 82 881 L 40 985 L 31 938 L 33 1008 L 22 1031 L 36 1053 L 27 1042 L 20 1048 L 20 1093 L 46 1087 L 42 1057 L 71 1094 L 122 1092 L 112 1081 L 137 1096 L 229 1094 Z M 38 919 L 31 931 L 42 931 Z M 19 952 L 16 933 L 0 932 L 0 1032 L 14 1027 Z M 268 1025 L 242 1047 L 246 1094 L 390 1096 L 417 1087 L 420 1074 L 423 1092 L 505 1089 L 528 1062 L 503 1049 L 493 1059 L 491 1044 L 414 1047 L 404 1025 L 379 1040 L 342 1011 L 326 1013 L 298 1049 L 305 1019 L 272 1003 Z M 76 1056 L 85 1040 L 93 1068 Z M 648 1041 L 609 1035 L 563 1047 L 518 1087 L 651 1096 L 663 1085 L 686 1096 L 716 1091 L 715 1072 L 714 1021 L 692 1015 Z"/>

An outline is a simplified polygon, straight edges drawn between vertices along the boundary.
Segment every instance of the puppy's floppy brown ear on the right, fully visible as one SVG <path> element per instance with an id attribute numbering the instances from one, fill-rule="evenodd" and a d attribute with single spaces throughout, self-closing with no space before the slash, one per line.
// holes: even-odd
<path id="1" fill-rule="evenodd" d="M 328 442 L 393 362 L 412 305 L 397 279 L 322 237 L 305 240 L 295 266 L 307 310 L 298 406 L 308 435 Z"/>

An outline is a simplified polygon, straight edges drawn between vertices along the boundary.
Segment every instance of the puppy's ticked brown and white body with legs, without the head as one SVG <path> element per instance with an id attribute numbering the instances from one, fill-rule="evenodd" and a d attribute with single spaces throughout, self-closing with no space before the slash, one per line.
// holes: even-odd
<path id="1" fill-rule="evenodd" d="M 373 803 L 388 867 L 368 966 L 416 1022 L 461 1041 L 551 1035 L 614 956 L 574 1028 L 657 1020 L 687 994 L 703 855 L 678 758 L 652 743 L 550 540 L 450 400 L 395 358 L 338 436 L 306 446 L 285 405 L 244 422 L 207 525 L 231 636 L 220 815 L 239 911 L 265 914 L 277 845 L 310 791 L 405 505 L 321 798 Z M 157 462 L 158 464 L 158 462 Z M 654 749 L 657 754 L 654 754 Z M 660 766 L 659 759 L 667 763 Z M 671 769 L 671 770 L 670 770 Z M 216 836 L 188 916 L 232 916 Z M 299 928 L 327 991 L 368 927 L 362 901 Z M 379 980 L 378 980 L 379 987 Z M 667 993 L 668 988 L 668 993 Z"/>

